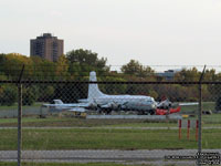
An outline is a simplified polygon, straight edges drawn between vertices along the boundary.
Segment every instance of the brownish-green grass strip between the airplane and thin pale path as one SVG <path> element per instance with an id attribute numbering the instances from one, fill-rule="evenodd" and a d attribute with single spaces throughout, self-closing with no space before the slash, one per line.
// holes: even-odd
<path id="1" fill-rule="evenodd" d="M 190 117 L 190 120 L 196 117 Z M 221 114 L 202 115 L 203 126 L 221 126 Z M 17 126 L 17 118 L 0 118 L 0 127 Z M 23 126 L 33 127 L 176 127 L 176 121 L 151 122 L 147 120 L 85 120 L 66 116 L 48 116 L 46 118 L 23 117 Z"/>

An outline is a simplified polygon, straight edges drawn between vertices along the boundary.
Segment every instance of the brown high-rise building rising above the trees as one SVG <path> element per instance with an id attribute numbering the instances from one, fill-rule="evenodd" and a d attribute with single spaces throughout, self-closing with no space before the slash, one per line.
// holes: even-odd
<path id="1" fill-rule="evenodd" d="M 64 41 L 53 37 L 51 33 L 43 33 L 36 39 L 31 39 L 30 55 L 36 55 L 49 61 L 57 61 L 64 51 Z"/>

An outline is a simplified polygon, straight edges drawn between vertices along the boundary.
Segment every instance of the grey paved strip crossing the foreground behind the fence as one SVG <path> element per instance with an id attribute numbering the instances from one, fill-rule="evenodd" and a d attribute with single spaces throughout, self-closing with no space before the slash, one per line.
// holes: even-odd
<path id="1" fill-rule="evenodd" d="M 220 153 L 221 149 L 207 149 L 203 152 Z M 166 156 L 196 156 L 197 149 L 179 151 L 23 151 L 22 158 L 27 162 L 67 162 L 67 163 L 91 163 L 91 162 L 115 162 L 126 164 L 176 164 L 196 165 L 196 159 L 172 160 L 165 159 Z M 0 151 L 0 160 L 17 160 L 15 151 Z"/>

